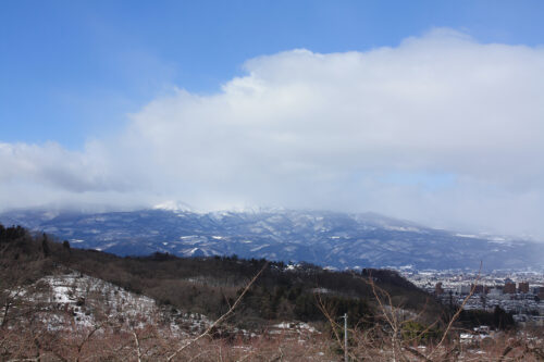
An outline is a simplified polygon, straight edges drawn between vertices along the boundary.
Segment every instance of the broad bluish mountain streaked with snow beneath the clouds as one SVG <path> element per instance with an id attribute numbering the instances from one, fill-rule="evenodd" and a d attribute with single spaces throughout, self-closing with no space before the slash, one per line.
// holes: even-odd
<path id="1" fill-rule="evenodd" d="M 423 227 L 378 214 L 260 210 L 195 213 L 184 208 L 100 214 L 21 211 L 0 214 L 69 240 L 73 247 L 120 255 L 169 252 L 182 257 L 237 254 L 337 269 L 542 267 L 543 245 Z"/>

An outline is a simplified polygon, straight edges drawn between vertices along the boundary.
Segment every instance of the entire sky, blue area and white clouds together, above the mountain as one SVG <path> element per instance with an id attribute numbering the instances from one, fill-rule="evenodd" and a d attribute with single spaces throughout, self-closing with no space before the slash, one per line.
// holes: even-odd
<path id="1" fill-rule="evenodd" d="M 0 210 L 379 212 L 544 240 L 542 1 L 3 1 Z"/>

